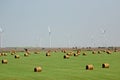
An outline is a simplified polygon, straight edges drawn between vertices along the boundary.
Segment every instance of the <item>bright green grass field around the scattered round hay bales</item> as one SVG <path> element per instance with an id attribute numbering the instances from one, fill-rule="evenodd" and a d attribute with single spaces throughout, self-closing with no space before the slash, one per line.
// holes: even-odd
<path id="1" fill-rule="evenodd" d="M 83 56 L 82 53 L 87 55 Z M 81 55 L 63 59 L 65 53 L 51 52 L 46 57 L 45 52 L 31 53 L 24 57 L 23 52 L 17 53 L 19 59 L 8 53 L 0 60 L 7 59 L 8 64 L 0 63 L 0 80 L 120 80 L 120 52 L 112 54 L 92 54 L 82 51 Z M 102 63 L 109 63 L 109 68 L 102 68 Z M 93 64 L 93 70 L 86 70 L 87 64 Z M 42 72 L 34 72 L 34 67 L 41 66 Z"/>

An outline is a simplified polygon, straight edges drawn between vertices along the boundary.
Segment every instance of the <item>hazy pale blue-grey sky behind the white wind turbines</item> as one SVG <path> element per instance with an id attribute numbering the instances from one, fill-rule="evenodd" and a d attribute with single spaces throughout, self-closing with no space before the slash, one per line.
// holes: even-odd
<path id="1" fill-rule="evenodd" d="M 0 28 L 2 47 L 120 46 L 120 0 L 0 0 Z"/>

